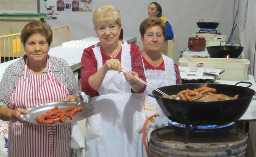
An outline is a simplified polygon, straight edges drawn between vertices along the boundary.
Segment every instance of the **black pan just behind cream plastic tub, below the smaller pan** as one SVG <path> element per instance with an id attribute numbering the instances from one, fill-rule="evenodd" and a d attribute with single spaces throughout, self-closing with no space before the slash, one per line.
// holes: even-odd
<path id="1" fill-rule="evenodd" d="M 242 53 L 244 47 L 224 45 L 224 46 L 208 46 L 206 47 L 206 49 L 210 57 L 213 57 L 213 58 L 226 58 L 227 55 L 229 55 L 229 58 L 237 58 Z"/>

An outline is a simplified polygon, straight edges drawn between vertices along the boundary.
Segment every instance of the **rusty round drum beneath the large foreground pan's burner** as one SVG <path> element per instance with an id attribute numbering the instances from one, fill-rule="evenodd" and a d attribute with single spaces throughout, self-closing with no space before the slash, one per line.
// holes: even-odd
<path id="1" fill-rule="evenodd" d="M 184 132 L 168 126 L 153 130 L 149 140 L 150 157 L 245 157 L 247 133 L 238 129 L 211 133 L 190 133 L 184 144 Z"/>

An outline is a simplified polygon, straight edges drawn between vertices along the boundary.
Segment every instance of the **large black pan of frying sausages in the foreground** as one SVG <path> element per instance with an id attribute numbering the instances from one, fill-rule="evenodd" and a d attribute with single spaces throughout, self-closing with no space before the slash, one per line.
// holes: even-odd
<path id="1" fill-rule="evenodd" d="M 187 88 L 194 89 L 202 86 L 203 84 L 179 84 L 158 89 L 168 95 L 175 95 Z M 242 86 L 208 84 L 208 87 L 216 88 L 216 93 L 232 97 L 239 94 L 239 97 L 236 100 L 197 102 L 162 98 L 162 95 L 155 90 L 152 91 L 153 95 L 149 96 L 156 99 L 165 116 L 174 122 L 192 125 L 222 125 L 240 119 L 255 95 L 254 90 Z"/>

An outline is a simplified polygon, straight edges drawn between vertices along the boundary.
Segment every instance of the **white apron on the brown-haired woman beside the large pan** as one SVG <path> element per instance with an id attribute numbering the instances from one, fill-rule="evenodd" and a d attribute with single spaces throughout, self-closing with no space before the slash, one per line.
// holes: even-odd
<path id="1" fill-rule="evenodd" d="M 162 55 L 164 64 L 165 64 L 165 71 L 160 70 L 145 70 L 145 76 L 147 83 L 154 86 L 155 88 L 160 88 L 162 86 L 170 86 L 176 84 L 176 73 L 174 70 L 174 61 L 167 57 L 166 55 Z M 144 66 L 144 63 L 143 63 Z M 144 67 L 145 69 L 145 67 Z M 152 94 L 153 89 L 150 87 L 146 87 L 146 90 L 144 92 L 144 95 L 146 97 L 144 102 L 144 109 L 146 112 L 146 117 L 149 117 L 153 114 L 156 114 L 160 111 L 157 111 L 160 109 L 158 107 L 158 103 L 156 102 L 155 98 L 150 97 L 148 94 Z M 154 122 L 153 129 L 160 128 L 163 126 L 168 125 L 168 118 L 163 117 L 156 117 Z M 149 123 L 150 124 L 150 123 Z"/>

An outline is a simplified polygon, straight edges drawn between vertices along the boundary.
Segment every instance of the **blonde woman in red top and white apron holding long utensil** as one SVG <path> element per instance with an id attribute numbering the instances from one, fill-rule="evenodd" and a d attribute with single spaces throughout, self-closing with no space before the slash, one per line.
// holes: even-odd
<path id="1" fill-rule="evenodd" d="M 139 47 L 119 40 L 121 17 L 117 8 L 104 5 L 94 11 L 99 43 L 84 50 L 82 90 L 91 98 L 95 115 L 87 118 L 86 157 L 144 157 L 142 93 L 146 81 Z M 126 73 L 121 73 L 121 68 Z"/>

